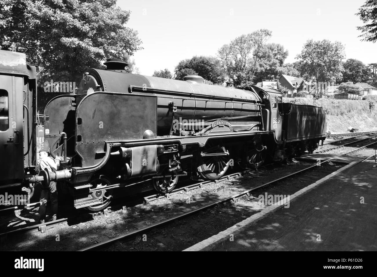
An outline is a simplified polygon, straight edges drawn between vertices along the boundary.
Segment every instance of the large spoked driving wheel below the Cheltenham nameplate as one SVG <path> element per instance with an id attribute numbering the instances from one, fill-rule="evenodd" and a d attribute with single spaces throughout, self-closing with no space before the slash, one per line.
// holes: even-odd
<path id="1" fill-rule="evenodd" d="M 214 155 L 224 153 L 227 153 L 227 155 Z M 208 156 L 206 156 L 206 154 Z M 207 180 L 217 180 L 227 171 L 230 164 L 230 157 L 225 147 L 209 144 L 201 152 L 200 163 L 201 165 L 198 167 L 200 175 Z"/>

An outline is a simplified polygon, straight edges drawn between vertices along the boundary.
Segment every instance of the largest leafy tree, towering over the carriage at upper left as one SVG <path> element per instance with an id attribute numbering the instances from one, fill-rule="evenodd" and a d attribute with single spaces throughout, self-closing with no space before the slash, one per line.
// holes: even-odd
<path id="1" fill-rule="evenodd" d="M 127 61 L 141 49 L 138 33 L 125 26 L 129 17 L 116 0 L 3 0 L 0 47 L 26 53 L 48 80 L 79 81 L 106 58 Z"/>

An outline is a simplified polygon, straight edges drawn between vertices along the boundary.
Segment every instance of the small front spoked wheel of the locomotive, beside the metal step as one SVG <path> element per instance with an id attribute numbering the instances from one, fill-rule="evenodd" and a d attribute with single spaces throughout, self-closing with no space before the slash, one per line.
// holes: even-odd
<path id="1" fill-rule="evenodd" d="M 91 193 L 93 200 L 97 199 L 98 201 L 101 201 L 101 204 L 88 206 L 88 207 L 85 207 L 85 209 L 91 212 L 98 212 L 100 210 L 104 210 L 111 203 L 111 198 L 113 197 L 113 190 L 112 189 L 98 190 L 98 189 L 110 186 L 111 185 L 110 181 L 107 180 L 106 178 L 101 177 L 101 178 L 96 178 L 93 181 L 90 181 L 90 184 L 92 185 L 90 190 L 94 190 Z"/>

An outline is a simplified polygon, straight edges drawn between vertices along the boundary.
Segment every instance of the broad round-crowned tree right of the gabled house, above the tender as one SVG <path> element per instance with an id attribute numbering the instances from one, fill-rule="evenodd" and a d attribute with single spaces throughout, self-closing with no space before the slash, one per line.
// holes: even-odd
<path id="1" fill-rule="evenodd" d="M 308 40 L 296 59 L 300 59 L 298 64 L 306 78 L 314 76 L 317 82 L 334 82 L 342 74 L 344 56 L 344 46 L 339 41 Z"/>

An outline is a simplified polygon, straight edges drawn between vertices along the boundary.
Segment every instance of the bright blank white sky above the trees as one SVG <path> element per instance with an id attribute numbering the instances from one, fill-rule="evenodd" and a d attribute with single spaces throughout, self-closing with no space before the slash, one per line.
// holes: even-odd
<path id="1" fill-rule="evenodd" d="M 377 43 L 360 41 L 356 14 L 365 0 L 118 0 L 131 11 L 127 26 L 139 32 L 144 50 L 135 53 L 143 75 L 168 68 L 182 59 L 216 55 L 239 35 L 266 28 L 268 42 L 288 49 L 294 62 L 308 39 L 340 41 L 346 58 L 377 62 Z"/>

